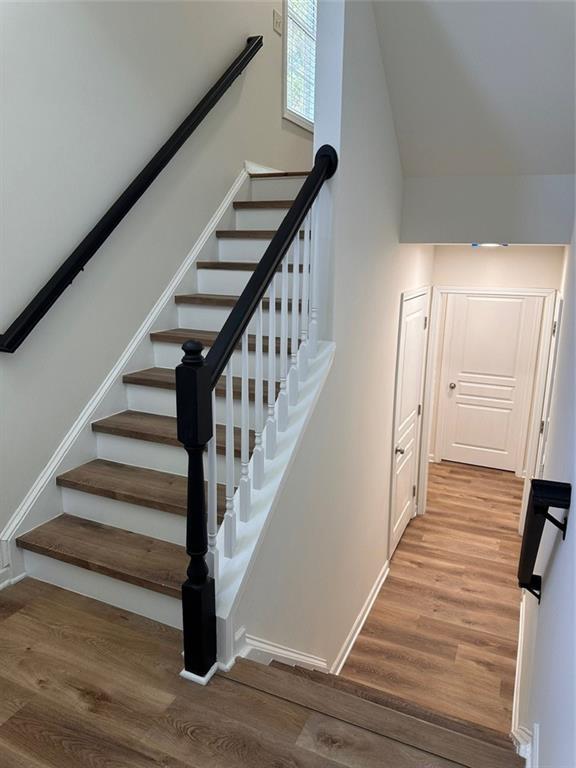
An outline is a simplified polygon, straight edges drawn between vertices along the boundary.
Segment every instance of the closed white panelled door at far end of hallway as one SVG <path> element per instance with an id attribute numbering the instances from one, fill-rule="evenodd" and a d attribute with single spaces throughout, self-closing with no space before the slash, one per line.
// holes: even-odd
<path id="1" fill-rule="evenodd" d="M 447 295 L 438 412 L 442 459 L 521 468 L 543 302 L 541 296 Z"/>

